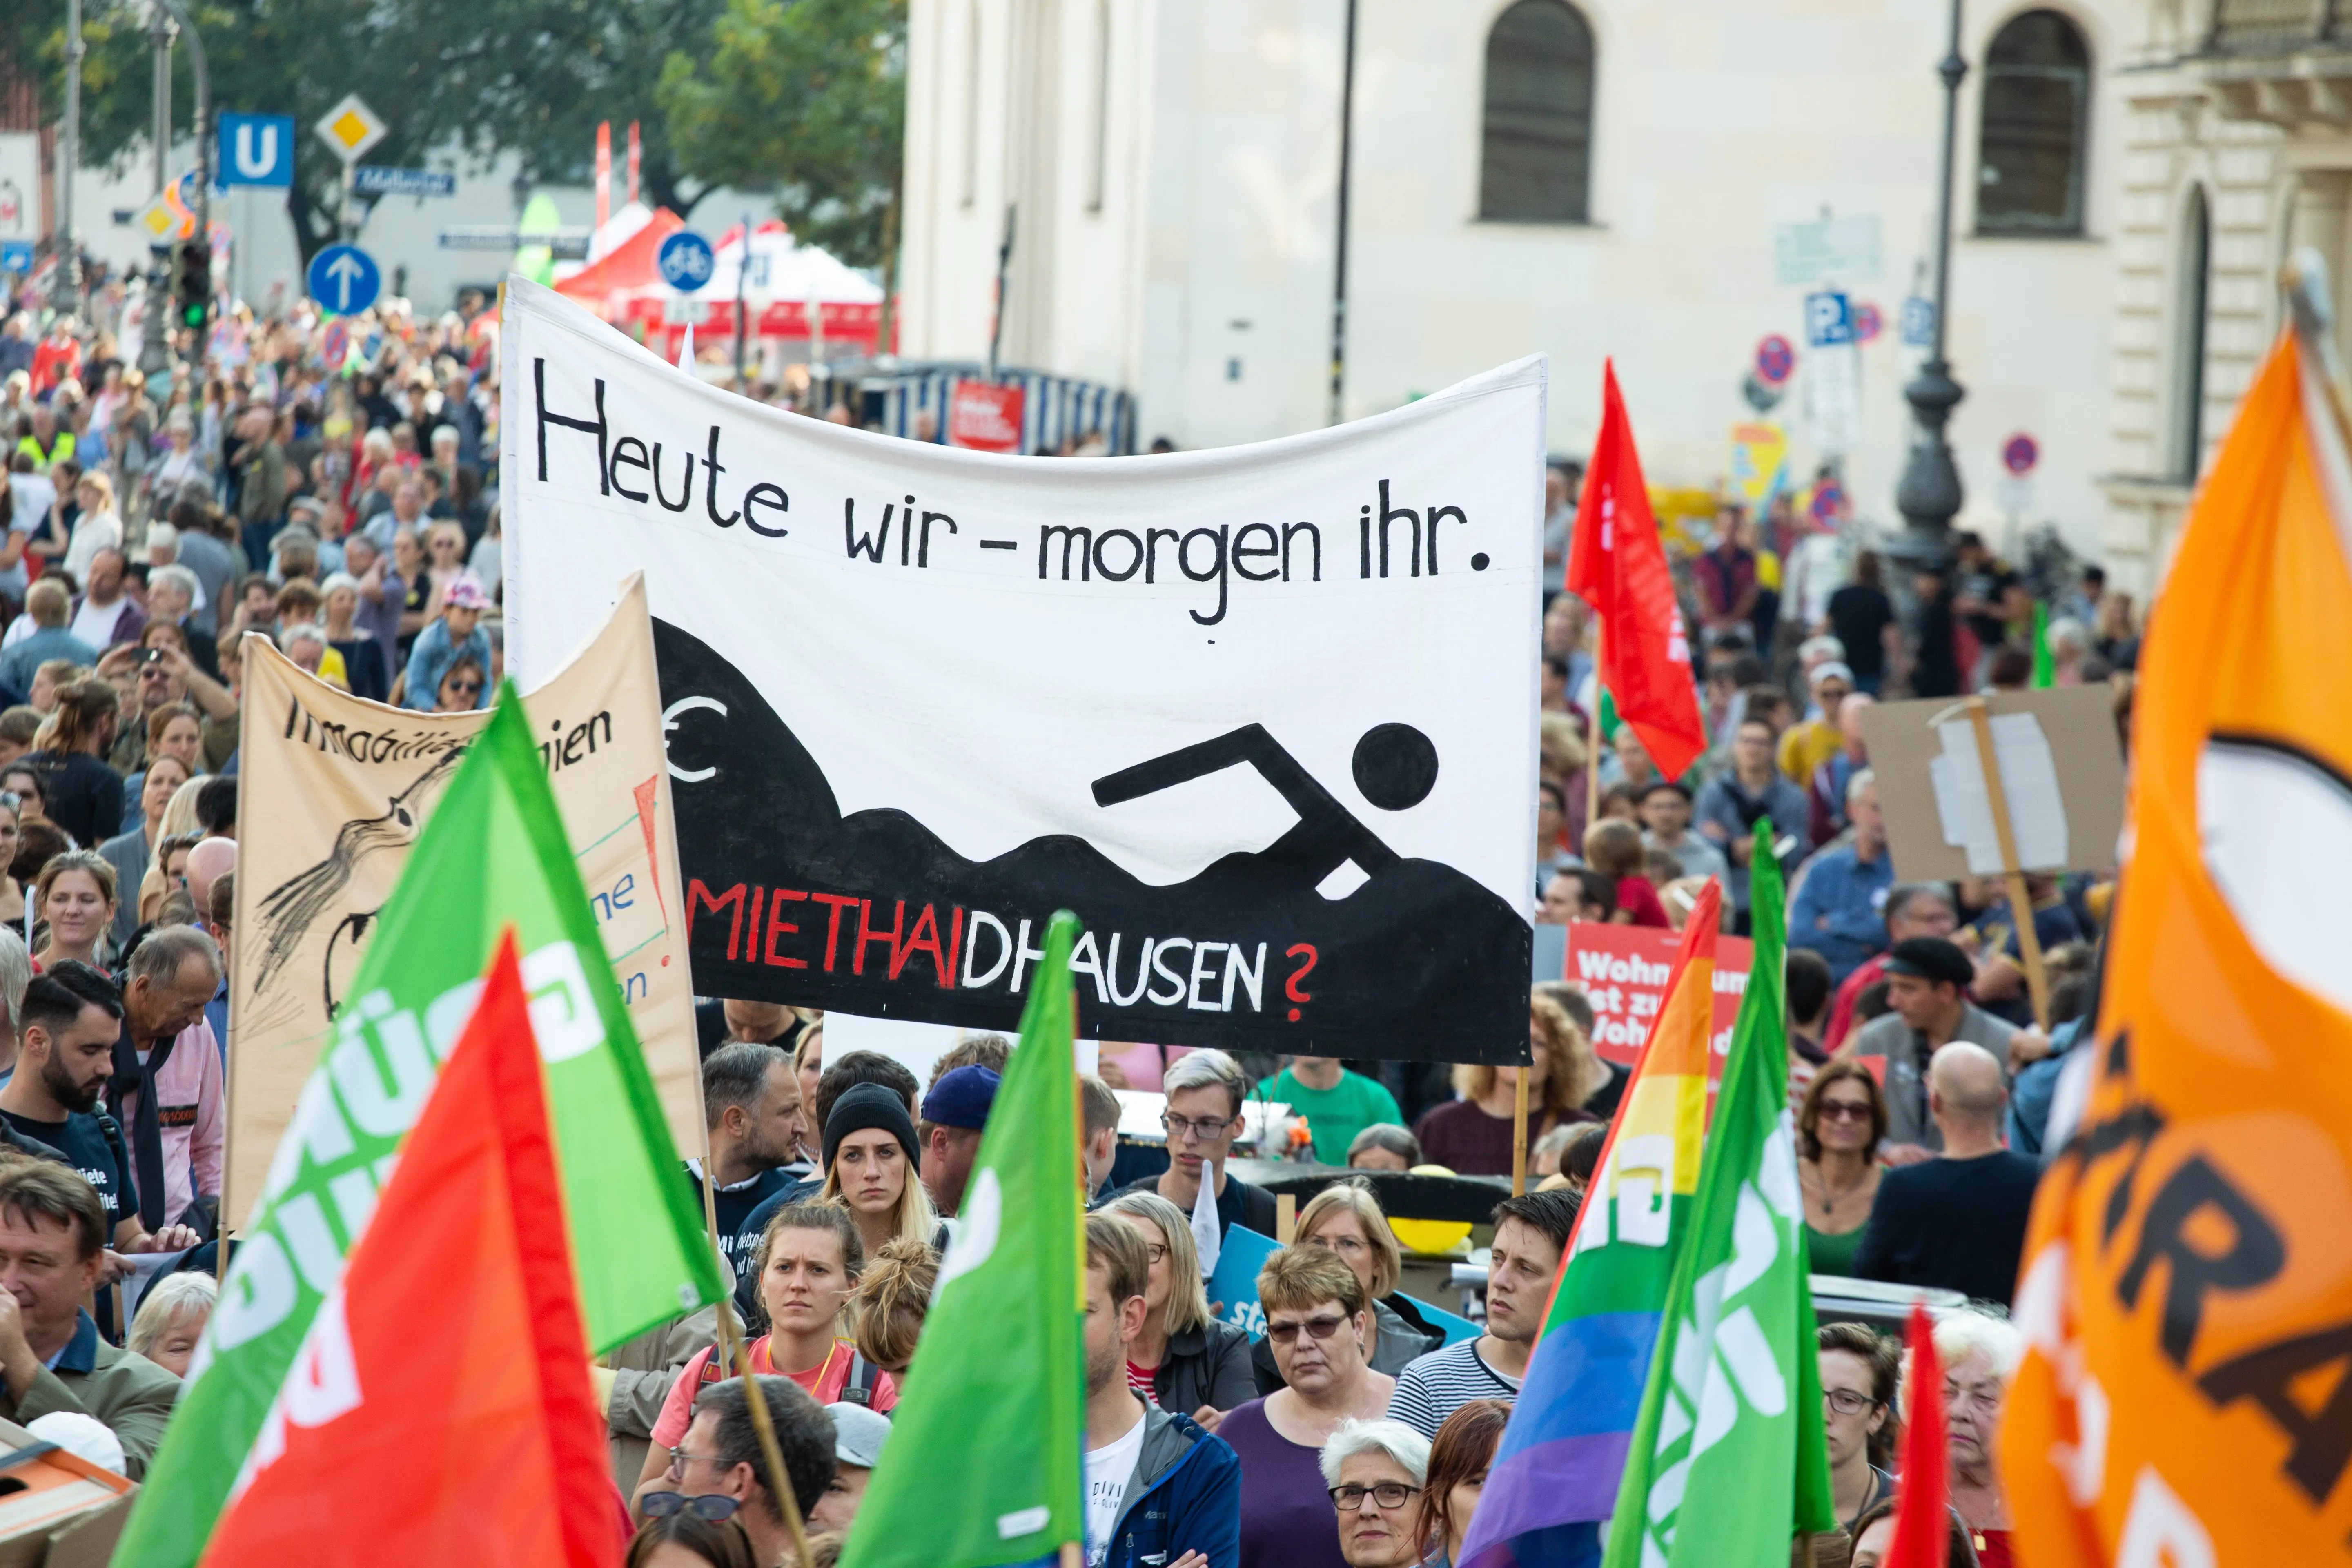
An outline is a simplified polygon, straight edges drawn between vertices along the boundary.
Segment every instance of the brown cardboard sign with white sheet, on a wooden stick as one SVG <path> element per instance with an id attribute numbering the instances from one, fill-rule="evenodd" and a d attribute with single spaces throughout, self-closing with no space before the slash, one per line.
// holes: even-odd
<path id="1" fill-rule="evenodd" d="M 1987 691 L 2018 870 L 2114 867 L 2124 832 L 2124 748 L 2107 686 Z M 1936 719 L 1931 724 L 1931 719 Z M 1959 703 L 1924 698 L 1863 712 L 1886 846 L 1903 882 L 1999 877 L 1973 726 Z"/>

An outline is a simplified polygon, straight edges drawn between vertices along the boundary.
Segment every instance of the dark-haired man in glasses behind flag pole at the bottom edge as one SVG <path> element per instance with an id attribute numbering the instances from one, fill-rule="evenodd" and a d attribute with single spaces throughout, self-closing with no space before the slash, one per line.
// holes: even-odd
<path id="1" fill-rule="evenodd" d="M 790 1378 L 757 1382 L 776 1427 L 783 1474 L 793 1479 L 793 1497 L 807 1519 L 833 1486 L 833 1418 Z M 670 1467 L 637 1488 L 637 1514 L 659 1519 L 691 1509 L 703 1519 L 734 1519 L 750 1537 L 753 1556 L 779 1563 L 793 1549 L 793 1537 L 786 1535 L 764 1476 L 743 1380 L 713 1382 L 694 1396 L 694 1425 L 670 1448 Z"/>

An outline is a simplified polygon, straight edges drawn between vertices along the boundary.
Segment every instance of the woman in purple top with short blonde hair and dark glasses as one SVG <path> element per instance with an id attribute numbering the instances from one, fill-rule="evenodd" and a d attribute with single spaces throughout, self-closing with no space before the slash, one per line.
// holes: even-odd
<path id="1" fill-rule="evenodd" d="M 1235 1406 L 1216 1429 L 1242 1460 L 1240 1568 L 1338 1568 L 1345 1521 L 1322 1450 L 1343 1422 L 1385 1418 L 1397 1380 L 1364 1363 L 1364 1281 L 1336 1253 L 1282 1248 L 1258 1269 L 1258 1305 L 1284 1387 Z"/>

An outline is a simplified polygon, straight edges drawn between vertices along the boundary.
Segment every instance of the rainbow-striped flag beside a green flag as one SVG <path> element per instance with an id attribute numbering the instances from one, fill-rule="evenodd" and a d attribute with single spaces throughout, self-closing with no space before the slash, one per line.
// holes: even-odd
<path id="1" fill-rule="evenodd" d="M 1458 1568 L 1599 1561 L 1599 1521 L 1616 1509 L 1698 1187 L 1719 924 L 1722 889 L 1708 882 L 1682 929 L 1665 1006 L 1602 1145 L 1576 1241 L 1559 1260 L 1543 1333 Z"/>

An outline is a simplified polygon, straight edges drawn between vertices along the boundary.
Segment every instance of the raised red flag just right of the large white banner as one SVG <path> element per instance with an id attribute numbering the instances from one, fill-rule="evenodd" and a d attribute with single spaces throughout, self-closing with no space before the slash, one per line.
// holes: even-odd
<path id="1" fill-rule="evenodd" d="M 1602 621 L 1599 679 L 1618 717 L 1642 736 L 1658 771 L 1679 778 L 1708 750 L 1708 731 L 1698 722 L 1691 639 L 1675 604 L 1658 520 L 1649 512 L 1616 362 L 1602 364 L 1602 433 L 1576 505 L 1566 588 Z"/>

